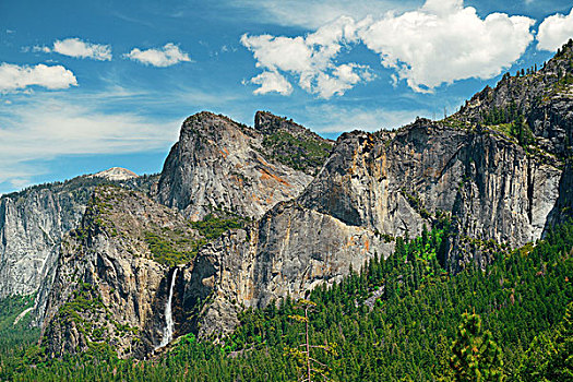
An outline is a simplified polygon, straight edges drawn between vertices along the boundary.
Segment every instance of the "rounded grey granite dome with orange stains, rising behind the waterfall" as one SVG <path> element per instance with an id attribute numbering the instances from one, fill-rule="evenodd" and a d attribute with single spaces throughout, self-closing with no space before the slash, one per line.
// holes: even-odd
<path id="1" fill-rule="evenodd" d="M 305 142 L 329 146 L 327 141 L 293 123 L 275 129 L 270 115 L 258 120 L 259 130 L 211 112 L 189 117 L 165 163 L 156 200 L 201 220 L 207 214 L 260 218 L 276 203 L 296 198 L 312 177 L 278 160 L 265 140 L 286 140 L 305 131 L 310 136 Z M 313 157 L 305 168 L 312 172 L 317 166 Z"/>

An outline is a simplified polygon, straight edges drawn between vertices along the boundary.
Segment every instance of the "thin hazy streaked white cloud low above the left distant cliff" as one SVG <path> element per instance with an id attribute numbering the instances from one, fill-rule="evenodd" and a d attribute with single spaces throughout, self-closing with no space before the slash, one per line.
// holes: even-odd
<path id="1" fill-rule="evenodd" d="M 116 103 L 109 92 L 85 98 L 60 94 L 58 100 L 40 95 L 21 98 L 0 105 L 0 184 L 10 182 L 14 188 L 48 172 L 47 162 L 59 156 L 167 150 L 180 126 L 179 119 L 100 111 Z"/>

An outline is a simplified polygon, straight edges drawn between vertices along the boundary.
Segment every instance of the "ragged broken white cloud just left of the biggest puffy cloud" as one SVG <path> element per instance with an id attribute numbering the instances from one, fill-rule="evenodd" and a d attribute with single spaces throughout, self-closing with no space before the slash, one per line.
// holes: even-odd
<path id="1" fill-rule="evenodd" d="M 330 98 L 372 79 L 366 65 L 334 62 L 346 45 L 356 43 L 356 31 L 360 25 L 350 17 L 339 17 L 305 37 L 243 35 L 241 44 L 253 52 L 258 68 L 277 74 L 290 73 L 298 77 L 299 86 L 308 93 Z M 264 88 L 272 88 L 275 77 L 260 74 L 252 79 L 252 83 L 261 85 L 254 93 L 266 93 Z"/>

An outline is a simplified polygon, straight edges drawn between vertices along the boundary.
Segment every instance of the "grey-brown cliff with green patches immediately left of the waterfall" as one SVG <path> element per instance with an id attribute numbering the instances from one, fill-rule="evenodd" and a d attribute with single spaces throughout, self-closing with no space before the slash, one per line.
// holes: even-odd
<path id="1" fill-rule="evenodd" d="M 121 357 L 153 351 L 174 266 L 189 262 L 196 239 L 177 212 L 144 194 L 97 188 L 81 226 L 61 243 L 43 327 L 48 354 L 106 344 Z"/>

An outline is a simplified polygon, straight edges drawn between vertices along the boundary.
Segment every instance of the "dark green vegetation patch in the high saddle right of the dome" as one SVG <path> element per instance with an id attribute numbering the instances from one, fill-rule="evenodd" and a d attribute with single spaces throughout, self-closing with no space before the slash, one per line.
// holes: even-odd
<path id="1" fill-rule="evenodd" d="M 270 159 L 306 172 L 320 168 L 332 148 L 325 141 L 305 135 L 295 136 L 284 131 L 266 135 L 263 146 L 267 150 Z"/>

